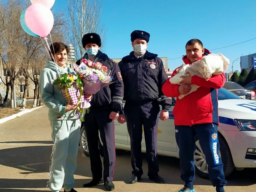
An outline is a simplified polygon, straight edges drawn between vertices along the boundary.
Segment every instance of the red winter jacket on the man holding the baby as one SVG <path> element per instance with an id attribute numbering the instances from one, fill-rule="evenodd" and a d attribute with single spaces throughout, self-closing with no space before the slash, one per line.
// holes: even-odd
<path id="1" fill-rule="evenodd" d="M 204 52 L 204 55 L 210 53 L 207 49 Z M 183 61 L 185 64 L 191 64 L 187 56 L 183 57 Z M 172 77 L 177 73 L 176 70 L 173 71 Z M 223 87 L 225 83 L 224 72 L 220 75 L 212 75 L 208 81 L 199 76 L 192 76 L 191 83 L 200 87 L 182 99 L 178 98 L 179 85 L 171 84 L 169 79 L 162 86 L 162 91 L 167 97 L 176 97 L 173 109 L 175 125 L 219 124 L 217 89 Z"/>

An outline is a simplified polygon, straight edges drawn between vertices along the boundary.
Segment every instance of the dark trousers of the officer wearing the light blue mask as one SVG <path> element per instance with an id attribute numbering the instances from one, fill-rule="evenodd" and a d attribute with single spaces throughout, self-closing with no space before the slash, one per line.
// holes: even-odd
<path id="1" fill-rule="evenodd" d="M 114 121 L 109 119 L 110 109 L 90 111 L 84 116 L 84 126 L 90 153 L 92 178 L 100 181 L 102 178 L 102 162 L 99 150 L 99 132 L 103 143 L 104 181 L 112 181 L 116 162 Z"/>

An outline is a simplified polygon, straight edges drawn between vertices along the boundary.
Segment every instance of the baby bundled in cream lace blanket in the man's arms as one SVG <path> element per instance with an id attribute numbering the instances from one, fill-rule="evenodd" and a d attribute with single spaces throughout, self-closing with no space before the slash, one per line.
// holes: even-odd
<path id="1" fill-rule="evenodd" d="M 212 75 L 219 75 L 227 70 L 229 63 L 229 59 L 221 53 L 205 55 L 201 60 L 195 61 L 191 65 L 183 64 L 177 69 L 178 73 L 170 78 L 170 83 L 179 84 L 183 80 L 181 76 L 187 76 L 189 73 L 191 76 L 197 75 L 208 81 Z M 191 91 L 188 94 L 196 91 L 199 87 L 198 85 L 191 85 Z M 180 95 L 178 98 L 182 99 L 188 94 Z"/>

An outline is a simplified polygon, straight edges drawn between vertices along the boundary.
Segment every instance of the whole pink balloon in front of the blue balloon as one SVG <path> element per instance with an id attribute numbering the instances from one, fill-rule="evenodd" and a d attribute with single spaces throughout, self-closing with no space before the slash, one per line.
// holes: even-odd
<path id="1" fill-rule="evenodd" d="M 46 37 L 52 30 L 54 18 L 48 7 L 36 3 L 27 8 L 25 22 L 33 33 Z"/>

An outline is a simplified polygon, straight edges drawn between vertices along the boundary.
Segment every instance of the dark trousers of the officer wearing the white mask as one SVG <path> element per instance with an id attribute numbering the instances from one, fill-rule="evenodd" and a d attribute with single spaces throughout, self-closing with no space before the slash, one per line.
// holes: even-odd
<path id="1" fill-rule="evenodd" d="M 127 128 L 131 141 L 131 163 L 133 168 L 133 175 L 140 177 L 143 174 L 141 153 L 143 130 L 146 143 L 148 176 L 155 176 L 159 172 L 157 155 L 157 129 L 159 111 L 160 107 L 157 101 L 146 103 L 140 106 L 126 102 L 124 106 L 124 114 L 126 117 Z"/>

